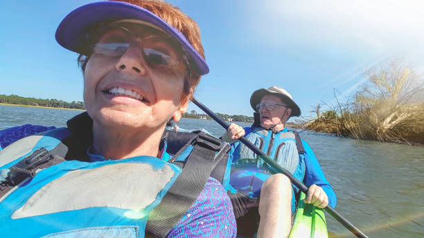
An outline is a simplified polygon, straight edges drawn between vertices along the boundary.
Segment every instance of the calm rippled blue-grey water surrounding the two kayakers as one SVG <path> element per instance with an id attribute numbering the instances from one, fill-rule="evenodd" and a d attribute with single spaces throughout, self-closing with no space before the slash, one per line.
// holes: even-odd
<path id="1" fill-rule="evenodd" d="M 33 124 L 64 127 L 81 111 L 0 106 L 0 129 Z M 249 126 L 248 124 L 241 124 Z M 183 118 L 185 129 L 205 128 L 220 136 L 210 120 Z M 336 210 L 369 237 L 424 237 L 424 147 L 337 138 L 301 132 L 312 147 L 338 197 Z M 354 237 L 326 217 L 336 237 Z"/>

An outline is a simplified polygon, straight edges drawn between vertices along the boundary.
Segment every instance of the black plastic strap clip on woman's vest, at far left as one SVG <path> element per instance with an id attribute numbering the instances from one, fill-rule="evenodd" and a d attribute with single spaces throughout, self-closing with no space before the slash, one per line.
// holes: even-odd
<path id="1" fill-rule="evenodd" d="M 39 165 L 46 163 L 54 158 L 47 149 L 37 149 L 33 154 L 19 161 L 16 165 L 10 167 L 8 182 L 10 185 L 18 185 L 26 178 L 34 177 L 35 170 Z"/>

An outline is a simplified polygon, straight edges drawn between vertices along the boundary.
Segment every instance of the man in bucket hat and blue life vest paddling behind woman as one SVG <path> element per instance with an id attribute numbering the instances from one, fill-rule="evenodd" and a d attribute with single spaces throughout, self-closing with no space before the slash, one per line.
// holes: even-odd
<path id="1" fill-rule="evenodd" d="M 297 146 L 299 139 L 285 128 L 290 116 L 301 114 L 292 95 L 279 86 L 272 86 L 254 91 L 250 104 L 258 113 L 259 121 L 245 129 L 232 123 L 222 136 L 224 141 L 234 143 L 230 152 L 233 158 L 230 197 L 238 234 L 249 236 L 257 230 L 258 237 L 287 237 L 299 189 L 291 185 L 287 176 L 275 174 L 272 167 L 237 142 L 240 136 L 246 135 L 251 143 L 309 187 L 305 203 L 334 208 L 337 199 L 312 149 L 304 140 L 301 140 L 303 148 Z"/>

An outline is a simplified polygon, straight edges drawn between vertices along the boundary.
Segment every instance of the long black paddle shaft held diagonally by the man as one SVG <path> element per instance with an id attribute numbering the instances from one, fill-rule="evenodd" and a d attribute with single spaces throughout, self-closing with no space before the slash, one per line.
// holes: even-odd
<path id="1" fill-rule="evenodd" d="M 228 129 L 228 127 L 229 127 L 228 123 L 227 122 L 224 122 L 224 120 L 222 120 L 220 117 L 216 116 L 215 113 L 213 113 L 213 111 L 209 110 L 209 108 L 207 108 L 206 106 L 204 106 L 204 104 L 202 104 L 201 102 L 195 100 L 195 98 L 193 98 L 191 100 L 191 102 L 193 102 L 194 104 L 196 104 L 197 107 L 199 107 L 200 109 L 202 109 L 202 111 L 204 111 L 206 114 L 208 114 L 209 116 L 211 116 L 211 118 L 213 118 L 213 120 L 215 120 L 216 122 L 218 122 L 219 125 L 221 125 L 222 127 L 224 127 L 225 130 Z M 244 136 L 242 136 L 242 137 L 238 138 L 238 140 L 240 140 L 241 143 L 243 143 L 247 147 L 249 147 L 249 149 L 251 149 L 253 152 L 255 152 L 256 154 L 258 154 L 258 156 L 260 156 L 260 158 L 262 158 L 266 163 L 268 163 L 269 165 L 271 165 L 275 170 L 277 170 L 281 174 L 284 174 L 285 176 L 288 176 L 288 178 L 290 178 L 290 181 L 296 187 L 299 187 L 299 189 L 302 192 L 304 192 L 305 194 L 308 194 L 308 187 L 306 185 L 304 185 L 299 180 L 297 180 L 297 178 L 294 178 L 294 176 L 292 176 L 292 174 L 290 174 L 290 172 L 288 172 L 288 170 L 285 170 L 285 168 L 281 167 L 281 165 L 279 165 L 274 160 L 272 160 L 272 158 L 270 158 L 270 156 L 267 156 L 264 152 L 262 152 L 262 150 L 258 149 L 258 147 L 256 147 L 253 143 L 251 143 L 249 140 L 247 140 L 247 138 L 245 138 Z M 353 232 L 353 234 L 356 237 L 368 238 L 362 231 L 360 231 L 358 228 L 356 228 L 355 226 L 353 226 L 353 224 L 351 222 L 349 222 L 344 217 L 342 217 L 341 214 L 339 214 L 338 212 L 336 212 L 329 205 L 327 205 L 326 208 L 324 208 L 324 210 L 326 210 L 326 212 L 328 212 L 328 214 L 330 214 L 337 221 L 339 221 L 339 223 L 342 223 L 342 225 L 345 228 L 347 228 L 348 230 L 350 230 L 351 232 Z"/>

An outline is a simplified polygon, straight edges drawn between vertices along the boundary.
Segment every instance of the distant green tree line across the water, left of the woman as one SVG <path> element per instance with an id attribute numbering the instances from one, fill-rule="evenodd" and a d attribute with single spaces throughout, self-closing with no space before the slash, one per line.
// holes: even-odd
<path id="1" fill-rule="evenodd" d="M 8 104 L 21 104 L 29 106 L 42 106 L 42 107 L 62 107 L 69 109 L 85 109 L 84 102 L 65 102 L 57 99 L 41 99 L 41 98 L 24 98 L 18 95 L 3 95 L 0 94 L 0 102 Z"/>

